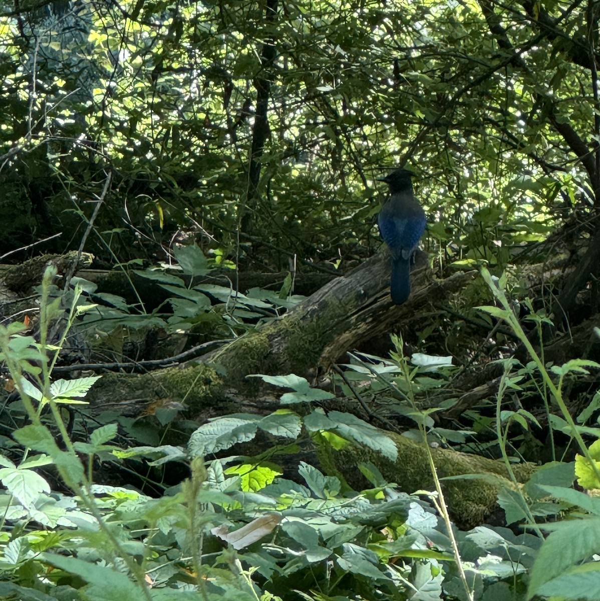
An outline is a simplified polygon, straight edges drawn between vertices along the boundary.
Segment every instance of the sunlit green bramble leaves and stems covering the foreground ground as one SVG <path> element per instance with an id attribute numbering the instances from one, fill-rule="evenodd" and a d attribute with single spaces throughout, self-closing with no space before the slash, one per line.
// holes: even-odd
<path id="1" fill-rule="evenodd" d="M 485 272 L 484 276 L 489 279 Z M 571 486 L 577 477 L 584 489 L 600 488 L 600 450 L 597 444 L 587 448 L 581 438 L 597 436 L 593 427 L 578 426 L 567 415 L 562 422 L 554 421 L 556 430 L 580 445 L 575 464 L 549 463 L 525 484 L 506 480 L 498 505 L 512 528 L 480 525 L 470 531 L 459 531 L 450 523 L 435 467 L 435 490 L 412 495 L 386 482 L 368 461 L 356 465 L 370 483 L 364 490 L 353 490 L 341 476 L 324 474 L 307 462 L 297 462 L 293 480 L 284 477 L 278 460 L 309 447 L 325 458 L 332 449 L 352 445 L 391 461 L 397 457 L 396 444 L 385 432 L 355 415 L 326 412 L 319 403 L 332 394 L 310 388 L 293 374 L 257 374 L 291 390 L 281 395 L 279 410 L 267 416 L 212 419 L 195 429 L 185 447 L 123 444 L 123 432 L 131 438 L 135 431 L 135 424 L 123 419 L 97 422 L 86 436 L 76 429 L 73 434 L 63 421 L 64 410 L 74 404 L 85 406 L 85 394 L 97 377 L 57 380 L 51 377 L 52 367 L 78 312 L 88 308 L 76 302 L 81 292 L 76 290 L 63 338 L 47 344 L 44 332 L 57 311 L 47 293 L 49 279 L 42 287 L 46 293 L 41 340 L 28 335 L 23 324 L 0 328 L 0 359 L 20 394 L 20 401 L 7 412 L 13 431 L 2 438 L 0 456 L 1 598 L 600 598 L 600 561 L 595 555 L 600 499 Z M 504 308 L 485 310 L 519 335 L 501 287 L 502 282 L 492 290 Z M 411 366 L 400 352 L 402 345 L 396 347 L 393 362 L 366 366 L 359 361 L 348 366 L 346 385 L 351 386 L 354 372 L 362 386 L 370 380 L 369 389 L 381 391 L 390 377 L 400 396 L 397 385 L 403 382 L 408 401 L 414 400 L 412 391 L 419 386 L 438 385 L 443 366 L 434 370 L 423 358 L 420 367 Z M 530 375 L 538 370 L 558 406 L 564 404 L 565 377 L 596 367 L 569 362 L 546 370 L 534 353 L 532 357 Z M 506 363 L 498 392 L 497 444 L 509 474 L 514 457 L 507 450 L 508 428 L 517 423 L 526 429 L 534 419 L 523 410 L 500 410 L 507 389 L 522 384 L 519 369 Z M 401 403 L 397 409 L 402 410 Z M 415 424 L 408 434 L 420 437 L 424 448 L 444 435 L 450 439 L 450 433 L 436 429 L 414 403 L 404 409 Z M 262 455 L 225 453 L 257 436 L 274 441 Z M 189 477 L 154 496 L 141 492 L 142 487 L 96 481 L 95 474 L 102 473 L 99 468 L 105 468 L 104 473 L 106 468 L 130 469 L 132 462 L 141 466 L 137 477 L 144 468 L 147 478 L 158 470 L 166 475 L 176 469 Z M 466 485 L 477 486 L 477 478 L 485 476 L 469 478 Z"/>

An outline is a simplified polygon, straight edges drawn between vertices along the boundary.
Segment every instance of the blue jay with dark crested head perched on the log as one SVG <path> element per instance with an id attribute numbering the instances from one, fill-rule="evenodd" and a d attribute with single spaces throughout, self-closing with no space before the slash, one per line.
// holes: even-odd
<path id="1" fill-rule="evenodd" d="M 425 212 L 412 192 L 408 169 L 396 169 L 380 182 L 390 186 L 390 197 L 379 211 L 379 233 L 392 255 L 391 300 L 396 305 L 406 302 L 411 293 L 411 260 L 425 231 Z"/>

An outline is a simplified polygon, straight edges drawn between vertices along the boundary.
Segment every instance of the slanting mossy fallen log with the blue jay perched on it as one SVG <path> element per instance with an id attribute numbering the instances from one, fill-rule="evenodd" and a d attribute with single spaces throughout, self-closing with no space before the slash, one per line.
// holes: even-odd
<path id="1" fill-rule="evenodd" d="M 272 387 L 249 374 L 310 374 L 332 363 L 367 338 L 387 335 L 411 315 L 434 310 L 447 294 L 460 290 L 476 272 L 435 280 L 424 253 L 412 272 L 406 304 L 391 304 L 389 255 L 378 254 L 346 276 L 336 278 L 281 319 L 248 332 L 204 355 L 201 363 L 148 374 L 105 374 L 88 394 L 90 410 L 142 415 L 162 402 L 186 406 L 188 415 L 206 418 L 240 407 L 270 410 Z"/>

